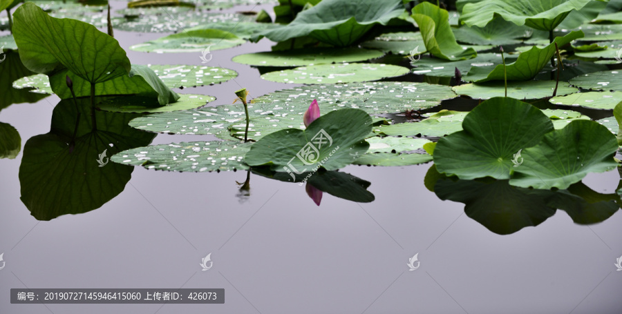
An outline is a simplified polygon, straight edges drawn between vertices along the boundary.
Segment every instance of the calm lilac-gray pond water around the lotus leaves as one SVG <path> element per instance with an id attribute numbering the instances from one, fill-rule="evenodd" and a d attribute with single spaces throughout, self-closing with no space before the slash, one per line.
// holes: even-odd
<path id="1" fill-rule="evenodd" d="M 161 34 L 115 36 L 133 63 L 200 63 L 198 53 L 128 49 Z M 241 87 L 252 96 L 292 87 L 263 81 L 258 70 L 230 61 L 271 44 L 215 51 L 209 65 L 240 75 L 182 92 L 214 95 L 212 104 L 219 105 L 230 104 Z M 19 130 L 23 145 L 49 131 L 57 101 L 12 105 L 0 121 Z M 158 135 L 153 144 L 209 139 Z M 619 210 L 591 226 L 558 210 L 536 227 L 498 235 L 467 217 L 464 204 L 442 201 L 424 187 L 431 164 L 348 166 L 341 171 L 370 181 L 375 201 L 357 204 L 324 193 L 321 206 L 297 184 L 258 175 L 251 175 L 250 196 L 241 202 L 241 171 L 138 167 L 102 208 L 39 222 L 19 199 L 21 157 L 0 159 L 6 262 L 0 313 L 622 313 L 622 271 L 614 266 L 622 255 Z M 619 179 L 613 171 L 583 183 L 614 193 Z M 214 266 L 201 271 L 208 253 Z M 408 271 L 416 253 L 420 267 Z M 10 304 L 10 288 L 225 288 L 226 301 Z"/>

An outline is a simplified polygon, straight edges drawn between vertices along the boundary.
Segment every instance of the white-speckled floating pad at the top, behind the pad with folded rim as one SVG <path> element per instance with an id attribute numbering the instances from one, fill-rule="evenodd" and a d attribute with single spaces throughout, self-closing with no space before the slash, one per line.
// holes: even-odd
<path id="1" fill-rule="evenodd" d="M 196 10 L 179 14 L 167 14 L 167 12 L 162 11 L 162 14 L 120 17 L 113 18 L 112 20 L 115 30 L 125 30 L 128 32 L 181 32 L 195 26 L 219 22 L 253 22 L 254 17 L 236 13 L 206 13 Z"/>

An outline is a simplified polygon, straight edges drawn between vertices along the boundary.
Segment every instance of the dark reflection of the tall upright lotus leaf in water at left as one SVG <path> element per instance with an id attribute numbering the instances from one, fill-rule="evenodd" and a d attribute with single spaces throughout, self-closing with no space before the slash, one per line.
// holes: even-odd
<path id="1" fill-rule="evenodd" d="M 75 128 L 77 110 L 82 117 Z M 19 167 L 21 201 L 36 219 L 86 213 L 119 195 L 133 168 L 109 157 L 148 145 L 154 137 L 127 126 L 135 114 L 95 111 L 96 128 L 90 115 L 90 99 L 78 99 L 77 106 L 62 100 L 52 113 L 50 132 L 26 141 Z"/>

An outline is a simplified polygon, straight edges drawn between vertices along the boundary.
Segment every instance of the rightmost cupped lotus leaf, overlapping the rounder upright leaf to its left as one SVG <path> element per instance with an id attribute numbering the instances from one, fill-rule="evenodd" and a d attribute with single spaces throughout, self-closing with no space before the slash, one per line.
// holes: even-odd
<path id="1" fill-rule="evenodd" d="M 545 135 L 540 144 L 522 150 L 522 163 L 514 167 L 509 183 L 524 188 L 565 189 L 588 173 L 616 168 L 613 156 L 617 149 L 616 137 L 605 126 L 572 121 Z"/>

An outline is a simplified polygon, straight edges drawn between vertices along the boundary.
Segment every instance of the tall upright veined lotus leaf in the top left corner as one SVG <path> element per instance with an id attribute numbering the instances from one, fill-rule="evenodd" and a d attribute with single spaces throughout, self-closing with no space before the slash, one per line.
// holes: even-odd
<path id="1" fill-rule="evenodd" d="M 13 16 L 13 36 L 19 57 L 33 72 L 53 75 L 67 68 L 96 84 L 128 75 L 131 70 L 119 42 L 95 26 L 50 17 L 28 2 L 17 8 Z"/>

